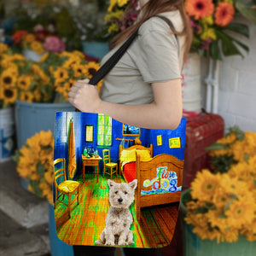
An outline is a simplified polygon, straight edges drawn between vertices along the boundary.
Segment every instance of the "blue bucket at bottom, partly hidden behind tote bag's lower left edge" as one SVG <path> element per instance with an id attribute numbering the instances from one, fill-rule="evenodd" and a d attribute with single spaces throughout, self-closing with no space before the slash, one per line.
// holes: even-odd
<path id="1" fill-rule="evenodd" d="M 49 205 L 49 240 L 51 256 L 73 256 L 73 246 L 61 241 L 56 233 L 54 207 Z"/>

